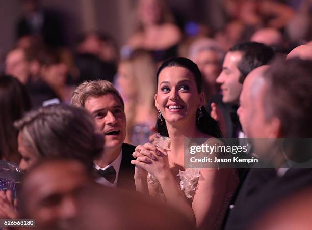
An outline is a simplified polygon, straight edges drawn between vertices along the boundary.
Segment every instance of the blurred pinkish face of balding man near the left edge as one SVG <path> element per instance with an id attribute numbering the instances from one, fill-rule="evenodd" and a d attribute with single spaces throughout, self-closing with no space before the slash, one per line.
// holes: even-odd
<path id="1" fill-rule="evenodd" d="M 12 50 L 6 58 L 6 74 L 16 77 L 25 84 L 29 75 L 29 63 L 22 49 Z"/>

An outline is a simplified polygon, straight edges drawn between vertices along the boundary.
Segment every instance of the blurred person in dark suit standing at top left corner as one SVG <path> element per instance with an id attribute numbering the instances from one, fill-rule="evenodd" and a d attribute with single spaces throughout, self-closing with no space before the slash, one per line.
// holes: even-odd
<path id="1" fill-rule="evenodd" d="M 48 46 L 64 45 L 60 16 L 42 10 L 39 0 L 22 0 L 24 15 L 16 26 L 17 38 L 38 36 Z"/>

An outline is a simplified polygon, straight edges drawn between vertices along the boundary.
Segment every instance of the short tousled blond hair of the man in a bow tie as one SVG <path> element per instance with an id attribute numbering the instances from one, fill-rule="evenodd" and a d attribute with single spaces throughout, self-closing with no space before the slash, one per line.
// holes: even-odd
<path id="1" fill-rule="evenodd" d="M 86 100 L 89 97 L 97 98 L 108 93 L 115 94 L 124 108 L 120 93 L 111 82 L 106 80 L 85 81 L 81 83 L 73 92 L 70 104 L 76 107 L 85 107 Z"/>

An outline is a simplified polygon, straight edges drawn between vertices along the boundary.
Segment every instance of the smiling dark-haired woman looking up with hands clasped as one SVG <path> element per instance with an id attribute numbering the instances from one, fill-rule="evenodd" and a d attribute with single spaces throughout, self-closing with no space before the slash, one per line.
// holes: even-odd
<path id="1" fill-rule="evenodd" d="M 132 163 L 138 191 L 160 194 L 198 228 L 219 229 L 238 184 L 236 170 L 189 169 L 184 162 L 186 138 L 206 138 L 209 145 L 222 145 L 214 138 L 221 137 L 218 124 L 203 108 L 201 85 L 200 71 L 191 60 L 173 57 L 161 65 L 155 95 L 157 129 L 170 138 L 170 146 L 139 145 Z"/>

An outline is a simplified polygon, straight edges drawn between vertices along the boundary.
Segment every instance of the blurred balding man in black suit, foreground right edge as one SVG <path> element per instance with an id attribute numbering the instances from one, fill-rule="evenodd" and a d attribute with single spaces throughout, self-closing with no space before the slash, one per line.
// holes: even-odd
<path id="1" fill-rule="evenodd" d="M 253 70 L 244 81 L 238 109 L 247 136 L 271 140 L 311 137 L 311 73 L 312 62 L 300 59 L 277 60 L 270 67 Z M 287 161 L 300 158 L 304 151 L 294 151 L 296 158 L 275 157 L 270 146 L 254 141 L 255 152 L 265 154 L 259 155 L 259 159 L 271 157 L 274 166 L 249 171 L 230 205 L 225 229 L 249 229 L 256 218 L 280 199 L 311 185 L 311 169 L 287 165 Z"/>

